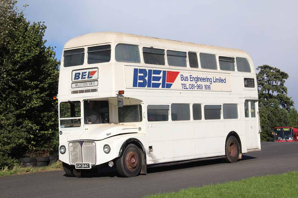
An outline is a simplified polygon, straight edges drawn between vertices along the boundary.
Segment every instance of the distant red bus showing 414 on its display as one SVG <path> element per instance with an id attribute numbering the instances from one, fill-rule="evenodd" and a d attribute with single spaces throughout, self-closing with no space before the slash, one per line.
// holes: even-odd
<path id="1" fill-rule="evenodd" d="M 298 129 L 293 127 L 275 127 L 273 139 L 276 142 L 297 142 Z"/>

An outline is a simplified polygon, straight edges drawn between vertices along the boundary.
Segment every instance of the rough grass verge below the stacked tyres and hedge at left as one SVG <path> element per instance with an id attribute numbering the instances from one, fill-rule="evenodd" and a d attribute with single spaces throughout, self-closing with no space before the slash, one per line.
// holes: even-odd
<path id="1" fill-rule="evenodd" d="M 8 167 L 4 167 L 0 170 L 0 177 L 8 176 L 8 175 L 22 175 L 33 172 L 45 172 L 52 170 L 61 170 L 63 168 L 62 162 L 57 161 L 49 166 L 44 167 L 21 167 L 21 165 L 14 166 L 12 169 Z"/>

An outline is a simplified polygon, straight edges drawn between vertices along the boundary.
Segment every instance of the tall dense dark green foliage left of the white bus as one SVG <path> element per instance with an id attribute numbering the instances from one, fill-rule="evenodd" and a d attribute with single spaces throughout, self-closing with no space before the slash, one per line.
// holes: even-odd
<path id="1" fill-rule="evenodd" d="M 46 26 L 30 23 L 16 1 L 0 1 L 0 167 L 58 148 L 58 66 L 43 40 Z"/>

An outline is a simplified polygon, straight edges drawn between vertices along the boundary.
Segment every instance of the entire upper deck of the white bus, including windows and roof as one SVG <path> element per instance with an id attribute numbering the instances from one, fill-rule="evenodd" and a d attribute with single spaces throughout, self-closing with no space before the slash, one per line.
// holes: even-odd
<path id="1" fill-rule="evenodd" d="M 129 96 L 144 88 L 257 98 L 254 65 L 242 50 L 115 32 L 69 40 L 59 81 L 60 99 L 113 97 L 117 90 Z"/>

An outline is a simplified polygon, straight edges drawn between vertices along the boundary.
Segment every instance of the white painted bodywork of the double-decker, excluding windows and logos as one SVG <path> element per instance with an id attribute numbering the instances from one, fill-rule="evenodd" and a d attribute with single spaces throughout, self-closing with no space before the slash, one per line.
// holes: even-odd
<path id="1" fill-rule="evenodd" d="M 140 49 L 140 63 L 122 63 L 115 61 L 115 46 L 118 43 L 138 45 Z M 86 49 L 90 46 L 111 45 L 111 61 L 100 64 L 87 64 Z M 145 64 L 142 57 L 142 47 L 151 47 L 164 50 L 177 50 L 183 52 L 196 52 L 215 54 L 217 57 L 218 70 L 190 68 L 188 59 L 187 67 L 151 65 Z M 142 37 L 132 34 L 101 32 L 86 34 L 69 40 L 63 47 L 63 50 L 85 48 L 85 61 L 81 66 L 63 67 L 63 56 L 61 58 L 58 100 L 81 101 L 81 115 L 83 118 L 83 100 L 102 99 L 109 101 L 110 124 L 84 125 L 83 121 L 80 127 L 61 128 L 59 131 L 60 145 L 66 146 L 66 153 L 59 154 L 59 159 L 69 164 L 68 143 L 74 140 L 91 140 L 96 143 L 96 165 L 103 164 L 118 157 L 121 145 L 129 138 L 136 138 L 145 148 L 147 164 L 164 163 L 170 161 L 189 160 L 206 157 L 216 157 L 225 155 L 225 140 L 229 132 L 236 132 L 241 141 L 242 153 L 250 150 L 260 150 L 260 128 L 259 119 L 256 117 L 245 118 L 244 101 L 258 100 L 257 81 L 254 70 L 254 64 L 250 56 L 237 49 L 224 47 L 214 47 L 207 45 L 198 45 L 194 43 L 172 41 L 166 39 L 157 39 Z M 251 73 L 221 71 L 219 69 L 218 56 L 241 57 L 246 58 L 251 66 Z M 188 58 L 188 57 L 187 57 Z M 94 87 L 71 88 L 72 72 L 78 69 L 98 68 L 98 85 Z M 134 88 L 132 87 L 132 69 L 161 69 L 180 72 L 181 74 L 195 74 L 197 76 L 218 76 L 226 77 L 229 81 L 226 85 L 216 85 L 210 91 L 201 90 L 183 90 L 176 82 L 173 88 Z M 253 78 L 255 80 L 254 88 L 245 88 L 243 78 Z M 97 89 L 97 92 L 72 94 L 74 90 Z M 124 90 L 125 94 L 121 96 L 124 105 L 141 104 L 142 122 L 120 123 L 117 114 L 116 91 Z M 194 121 L 192 116 L 190 121 L 169 121 L 148 122 L 147 105 L 148 104 L 172 104 L 188 103 L 190 104 L 190 115 L 192 115 L 191 105 L 199 104 L 238 104 L 238 119 L 220 120 L 202 120 Z M 202 111 L 203 111 L 202 107 Z M 258 106 L 256 103 L 256 116 L 258 116 Z M 204 115 L 204 112 L 202 112 Z M 141 127 L 141 131 L 138 128 Z M 109 135 L 108 135 L 109 134 Z M 103 146 L 109 144 L 111 152 L 103 152 Z M 149 146 L 153 147 L 153 152 L 149 153 Z"/>

